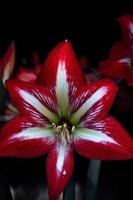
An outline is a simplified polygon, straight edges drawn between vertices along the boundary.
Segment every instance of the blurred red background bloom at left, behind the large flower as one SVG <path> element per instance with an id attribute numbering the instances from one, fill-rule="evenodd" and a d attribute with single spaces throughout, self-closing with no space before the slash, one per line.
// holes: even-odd
<path id="1" fill-rule="evenodd" d="M 15 67 L 15 43 L 12 42 L 7 49 L 4 57 L 0 60 L 0 77 L 2 78 L 3 84 L 13 77 L 28 83 L 35 83 L 37 76 L 41 69 L 41 64 L 39 62 L 39 57 L 37 53 L 33 53 L 33 64 L 32 69 L 26 67 L 19 67 L 17 73 L 14 73 Z M 0 121 L 5 122 L 14 118 L 18 115 L 18 110 L 15 106 L 8 102 L 5 110 L 0 115 Z"/>

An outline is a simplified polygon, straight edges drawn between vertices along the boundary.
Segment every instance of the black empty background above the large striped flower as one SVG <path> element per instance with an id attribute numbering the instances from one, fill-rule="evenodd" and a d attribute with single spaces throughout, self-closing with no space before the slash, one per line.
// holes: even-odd
<path id="1" fill-rule="evenodd" d="M 120 36 L 118 16 L 133 13 L 129 0 L 109 1 L 24 1 L 1 6 L 0 54 L 15 40 L 17 59 L 32 51 L 42 59 L 58 42 L 69 39 L 78 56 L 94 63 L 107 56 Z"/>

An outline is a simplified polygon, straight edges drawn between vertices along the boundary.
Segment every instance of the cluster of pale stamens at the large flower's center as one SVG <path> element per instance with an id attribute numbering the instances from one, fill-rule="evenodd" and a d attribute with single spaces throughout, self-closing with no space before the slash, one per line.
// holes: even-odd
<path id="1" fill-rule="evenodd" d="M 57 125 L 55 123 L 52 123 L 52 127 L 55 133 L 56 138 L 59 140 L 59 142 L 63 144 L 70 144 L 73 132 L 75 130 L 75 126 L 68 125 L 67 123 L 62 123 L 61 125 Z"/>

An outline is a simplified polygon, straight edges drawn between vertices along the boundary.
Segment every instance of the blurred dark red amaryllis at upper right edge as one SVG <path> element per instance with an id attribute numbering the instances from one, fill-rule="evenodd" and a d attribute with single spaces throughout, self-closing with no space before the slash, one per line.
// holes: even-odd
<path id="1" fill-rule="evenodd" d="M 133 16 L 118 18 L 122 29 L 122 38 L 110 50 L 109 58 L 100 62 L 102 75 L 124 79 L 133 86 Z"/>

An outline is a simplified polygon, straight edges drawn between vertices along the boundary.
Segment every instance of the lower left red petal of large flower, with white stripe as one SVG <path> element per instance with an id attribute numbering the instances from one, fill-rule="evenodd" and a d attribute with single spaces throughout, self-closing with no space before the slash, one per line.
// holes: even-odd
<path id="1" fill-rule="evenodd" d="M 54 142 L 52 129 L 40 127 L 28 118 L 18 116 L 1 131 L 0 156 L 41 156 L 48 152 Z"/>

